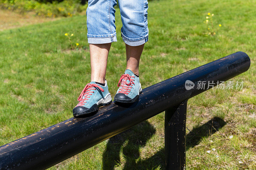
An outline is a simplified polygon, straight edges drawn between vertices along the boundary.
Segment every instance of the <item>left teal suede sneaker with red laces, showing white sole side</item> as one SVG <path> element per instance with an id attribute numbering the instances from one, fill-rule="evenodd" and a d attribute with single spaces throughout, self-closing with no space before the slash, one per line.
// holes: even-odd
<path id="1" fill-rule="evenodd" d="M 108 92 L 107 80 L 105 86 L 88 83 L 77 99 L 79 103 L 73 108 L 74 117 L 83 116 L 98 110 L 98 106 L 105 106 L 112 102 L 110 93 Z"/>

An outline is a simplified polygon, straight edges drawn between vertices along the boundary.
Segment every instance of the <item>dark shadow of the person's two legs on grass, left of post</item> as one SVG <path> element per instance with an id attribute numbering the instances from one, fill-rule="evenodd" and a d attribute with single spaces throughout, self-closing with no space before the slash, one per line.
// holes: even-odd
<path id="1" fill-rule="evenodd" d="M 118 166 L 121 162 L 121 151 L 126 159 L 124 169 L 133 169 L 131 167 L 136 165 L 135 161 L 140 157 L 140 147 L 143 147 L 155 132 L 156 129 L 148 121 L 144 121 L 111 137 L 103 153 L 103 170 L 113 170 Z"/>

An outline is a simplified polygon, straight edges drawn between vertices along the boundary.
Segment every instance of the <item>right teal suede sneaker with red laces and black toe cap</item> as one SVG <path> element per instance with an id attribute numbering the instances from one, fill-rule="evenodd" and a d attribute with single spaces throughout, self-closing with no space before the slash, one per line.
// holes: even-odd
<path id="1" fill-rule="evenodd" d="M 114 97 L 114 101 L 121 103 L 133 103 L 139 99 L 139 94 L 142 91 L 140 78 L 127 69 L 121 76 L 118 82 L 118 90 Z"/>

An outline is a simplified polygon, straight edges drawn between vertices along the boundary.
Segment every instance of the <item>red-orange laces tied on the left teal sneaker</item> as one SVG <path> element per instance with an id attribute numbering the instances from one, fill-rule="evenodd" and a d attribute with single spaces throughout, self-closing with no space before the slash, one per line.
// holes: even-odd
<path id="1" fill-rule="evenodd" d="M 84 103 L 86 103 L 85 100 L 88 100 L 88 98 L 90 98 L 90 95 L 92 95 L 91 93 L 94 93 L 91 90 L 96 90 L 95 87 L 98 87 L 101 92 L 104 92 L 103 88 L 101 88 L 99 85 L 88 83 L 87 85 L 85 85 L 83 91 L 81 92 L 80 96 L 78 97 L 77 101 L 79 101 L 79 103 L 76 106 L 84 105 Z M 83 99 L 83 96 L 84 96 L 84 99 Z"/>

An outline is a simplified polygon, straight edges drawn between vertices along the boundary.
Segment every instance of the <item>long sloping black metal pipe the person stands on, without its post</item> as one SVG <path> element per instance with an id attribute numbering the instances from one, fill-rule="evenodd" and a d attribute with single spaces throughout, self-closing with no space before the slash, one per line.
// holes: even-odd
<path id="1" fill-rule="evenodd" d="M 149 86 L 133 104 L 112 102 L 90 117 L 72 117 L 22 137 L 0 147 L 0 169 L 51 167 L 207 90 L 186 90 L 186 80 L 195 85 L 199 81 L 226 81 L 249 67 L 248 55 L 237 52 Z"/>

